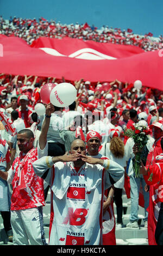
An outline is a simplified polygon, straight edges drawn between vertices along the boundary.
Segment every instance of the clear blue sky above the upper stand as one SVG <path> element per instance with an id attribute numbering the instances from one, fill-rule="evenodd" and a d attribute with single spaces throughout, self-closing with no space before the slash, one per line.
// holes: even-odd
<path id="1" fill-rule="evenodd" d="M 133 29 L 136 34 L 163 35 L 163 1 L 153 0 L 0 0 L 0 15 L 78 22 L 101 28 Z"/>

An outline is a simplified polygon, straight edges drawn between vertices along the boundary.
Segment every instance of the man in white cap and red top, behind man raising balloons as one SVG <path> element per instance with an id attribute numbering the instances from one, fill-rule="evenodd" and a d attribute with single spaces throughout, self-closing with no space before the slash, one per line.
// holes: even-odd
<path id="1" fill-rule="evenodd" d="M 32 111 L 28 109 L 27 95 L 21 95 L 19 102 L 20 102 L 20 107 L 16 109 L 18 111 L 18 117 L 24 120 L 24 124 L 26 125 L 26 128 L 27 128 L 29 127 L 28 117 L 32 113 Z"/>

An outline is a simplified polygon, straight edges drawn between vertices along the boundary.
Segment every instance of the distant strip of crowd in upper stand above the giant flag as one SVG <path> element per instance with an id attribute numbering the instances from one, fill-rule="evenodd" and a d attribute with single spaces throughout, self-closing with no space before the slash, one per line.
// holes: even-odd
<path id="1" fill-rule="evenodd" d="M 94 25 L 87 23 L 79 25 L 63 25 L 55 20 L 48 21 L 41 17 L 37 19 L 22 19 L 20 17 L 10 17 L 4 20 L 0 17 L 0 33 L 7 36 L 19 36 L 26 40 L 30 45 L 40 36 L 50 38 L 63 38 L 69 36 L 82 40 L 93 40 L 97 42 L 110 42 L 112 44 L 134 45 L 141 47 L 145 51 L 155 51 L 162 48 L 163 38 L 153 38 L 153 34 L 149 32 L 145 35 L 134 34 L 132 29 L 112 28 L 102 26 L 100 29 Z"/>

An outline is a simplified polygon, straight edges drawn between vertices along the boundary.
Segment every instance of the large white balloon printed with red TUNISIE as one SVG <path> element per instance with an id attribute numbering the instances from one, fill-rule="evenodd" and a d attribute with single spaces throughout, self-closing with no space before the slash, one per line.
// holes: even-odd
<path id="1" fill-rule="evenodd" d="M 71 83 L 59 83 L 50 94 L 50 101 L 54 106 L 70 106 L 77 96 L 77 90 Z"/>

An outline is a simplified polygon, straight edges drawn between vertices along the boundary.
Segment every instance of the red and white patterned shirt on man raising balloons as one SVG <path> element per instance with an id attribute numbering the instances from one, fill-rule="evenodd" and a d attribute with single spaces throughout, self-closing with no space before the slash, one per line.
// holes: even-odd
<path id="1" fill-rule="evenodd" d="M 12 180 L 11 210 L 23 210 L 45 205 L 43 179 L 34 173 L 37 148 L 16 157 L 9 172 Z M 25 182 L 25 184 L 24 184 Z"/>

